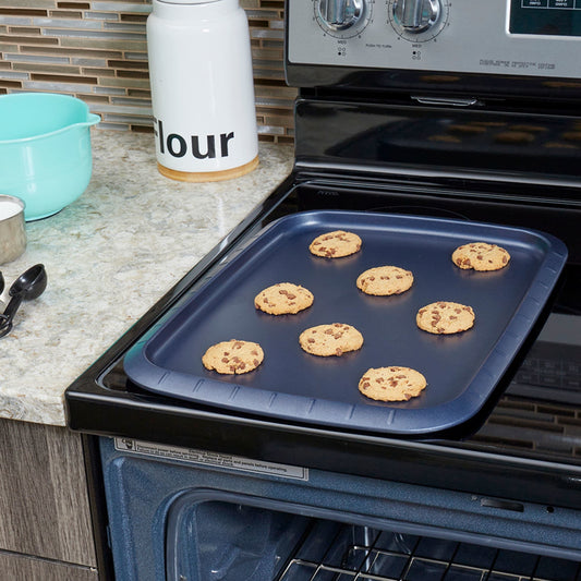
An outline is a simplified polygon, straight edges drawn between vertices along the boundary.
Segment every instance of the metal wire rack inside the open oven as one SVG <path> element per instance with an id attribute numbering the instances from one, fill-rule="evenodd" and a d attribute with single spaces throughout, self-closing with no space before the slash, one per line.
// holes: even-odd
<path id="1" fill-rule="evenodd" d="M 366 526 L 339 525 L 329 540 L 326 526 L 303 536 L 275 581 L 581 580 L 581 564 L 560 558 Z"/>

